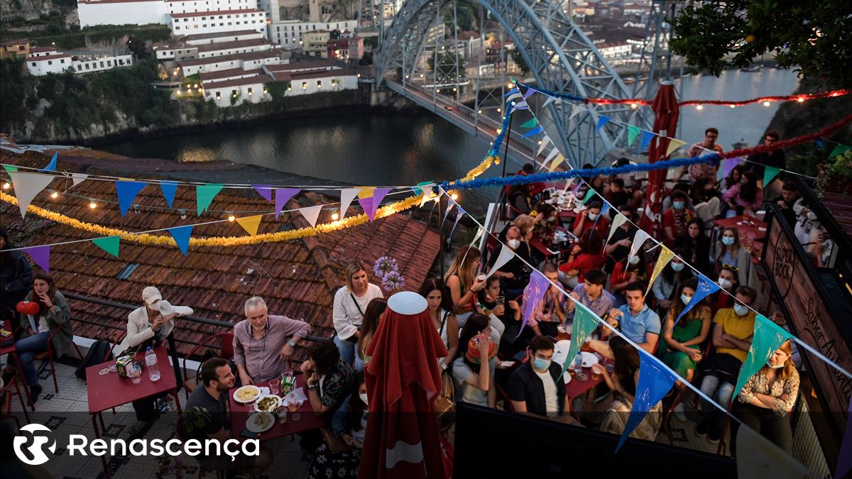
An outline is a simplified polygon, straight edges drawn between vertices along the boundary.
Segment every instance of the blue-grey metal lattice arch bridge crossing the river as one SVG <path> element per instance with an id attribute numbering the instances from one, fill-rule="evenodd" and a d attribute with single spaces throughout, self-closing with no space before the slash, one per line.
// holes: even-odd
<path id="1" fill-rule="evenodd" d="M 601 52 L 569 20 L 561 2 L 552 0 L 477 0 L 493 20 L 503 26 L 527 63 L 538 86 L 584 97 L 624 99 L 628 89 Z M 376 78 L 377 86 L 386 85 L 421 107 L 426 107 L 457 124 L 463 130 L 490 141 L 498 122 L 481 115 L 481 110 L 464 107 L 452 97 L 438 95 L 433 85 L 417 84 L 415 72 L 424 51 L 428 51 L 430 28 L 440 24 L 441 13 L 455 9 L 454 0 L 406 0 L 391 26 L 380 33 Z M 480 26 L 483 25 L 481 21 Z M 438 39 L 435 38 L 437 60 Z M 455 43 L 458 45 L 458 41 Z M 484 48 L 484 47 L 483 47 Z M 503 49 L 505 51 L 505 49 Z M 458 59 L 457 59 L 458 62 Z M 436 63 L 433 70 L 437 70 Z M 457 65 L 458 73 L 458 65 Z M 423 75 L 420 75 L 423 77 Z M 458 75 L 457 75 L 458 81 Z M 440 85 L 437 85 L 440 86 Z M 477 78 L 479 88 L 479 78 Z M 478 93 L 478 92 L 477 92 Z M 536 95 L 540 96 L 540 95 Z M 535 108 L 533 105 L 531 107 Z M 566 102 L 551 102 L 544 111 L 536 109 L 539 122 L 557 143 L 573 167 L 596 164 L 602 156 L 625 141 L 625 129 L 614 122 L 596 131 L 600 115 L 620 122 L 648 128 L 644 115 L 627 105 L 586 104 L 572 115 Z M 498 110 L 499 112 L 499 110 Z M 510 154 L 524 161 L 536 158 L 532 139 L 520 140 Z M 519 157 L 520 154 L 520 157 Z"/>

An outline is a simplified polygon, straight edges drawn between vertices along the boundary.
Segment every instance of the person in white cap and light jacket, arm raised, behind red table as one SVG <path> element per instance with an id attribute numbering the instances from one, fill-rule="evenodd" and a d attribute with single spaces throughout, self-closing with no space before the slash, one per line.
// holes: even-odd
<path id="1" fill-rule="evenodd" d="M 117 350 L 133 354 L 148 346 L 157 347 L 160 341 L 166 339 L 169 342 L 175 378 L 177 384 L 181 384 L 181 370 L 178 368 L 180 363 L 177 360 L 175 338 L 171 333 L 175 329 L 175 318 L 192 315 L 193 309 L 187 306 L 172 306 L 163 299 L 163 295 L 154 286 L 147 286 L 142 290 L 142 302 L 145 303 L 145 306 L 134 309 L 130 312 L 130 315 L 127 315 L 127 335 Z M 158 397 L 146 397 L 139 401 L 133 401 L 136 424 L 130 426 L 130 436 L 138 435 L 146 424 L 153 423 L 156 420 L 155 404 Z M 174 399 L 169 398 L 168 402 L 170 409 L 176 407 L 174 406 Z"/>

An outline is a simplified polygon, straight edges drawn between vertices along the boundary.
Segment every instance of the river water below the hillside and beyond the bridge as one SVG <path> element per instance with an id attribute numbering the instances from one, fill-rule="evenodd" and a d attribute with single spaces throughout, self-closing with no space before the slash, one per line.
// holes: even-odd
<path id="1" fill-rule="evenodd" d="M 795 73 L 764 68 L 761 72 L 723 72 L 720 78 L 683 78 L 683 99 L 745 100 L 764 95 L 790 95 Z M 741 139 L 753 144 L 763 135 L 779 103 L 737 107 L 685 107 L 676 137 L 700 141 L 708 126 L 720 130 L 726 150 Z M 227 159 L 299 176 L 352 185 L 404 185 L 425 180 L 452 180 L 478 164 L 487 145 L 432 113 L 340 113 L 276 118 L 244 128 L 179 133 L 120 141 L 98 148 L 135 158 L 203 161 Z M 492 167 L 486 175 L 499 175 Z M 508 170 L 518 165 L 509 164 Z M 233 182 L 239 182 L 234 178 Z M 463 193 L 459 201 L 481 213 L 495 188 Z"/>

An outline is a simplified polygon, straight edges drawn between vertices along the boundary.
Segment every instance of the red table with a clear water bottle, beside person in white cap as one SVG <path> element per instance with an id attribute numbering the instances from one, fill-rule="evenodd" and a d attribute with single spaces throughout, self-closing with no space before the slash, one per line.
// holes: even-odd
<path id="1" fill-rule="evenodd" d="M 97 418 L 101 420 L 101 430 L 107 429 L 104 426 L 104 418 L 101 413 L 107 409 L 112 409 L 113 407 L 137 401 L 148 396 L 171 391 L 172 395 L 175 396 L 177 413 L 181 414 L 181 400 L 177 394 L 177 381 L 175 379 L 175 372 L 169 362 L 169 354 L 166 352 L 164 346 L 155 348 L 154 353 L 157 355 L 157 366 L 159 366 L 160 370 L 158 381 L 152 381 L 148 378 L 147 366 L 142 367 L 139 384 L 133 384 L 130 378 L 119 377 L 118 372 L 110 371 L 104 375 L 98 373 L 104 367 L 114 364 L 114 360 L 86 368 L 86 393 L 89 397 L 89 414 L 92 416 L 92 425 L 95 427 L 95 438 L 101 438 L 101 432 L 98 431 Z M 136 353 L 134 360 L 144 361 L 145 352 L 140 351 Z M 104 474 L 109 476 L 106 454 L 101 456 L 101 462 L 104 466 Z"/>

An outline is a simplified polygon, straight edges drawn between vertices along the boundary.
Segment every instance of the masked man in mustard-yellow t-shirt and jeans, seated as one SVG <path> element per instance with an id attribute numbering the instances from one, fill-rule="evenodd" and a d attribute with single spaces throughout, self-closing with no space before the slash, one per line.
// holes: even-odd
<path id="1" fill-rule="evenodd" d="M 734 384 L 751 348 L 756 315 L 750 308 L 756 298 L 757 292 L 748 286 L 740 286 L 736 291 L 734 308 L 719 309 L 713 317 L 712 343 L 716 351 L 701 361 L 704 372 L 701 392 L 722 406 L 730 404 Z M 711 444 L 718 442 L 722 436 L 724 413 L 704 400 L 701 400 L 701 412 L 703 419 L 695 427 L 695 434 L 706 436 Z"/>

